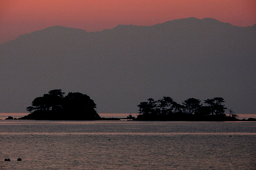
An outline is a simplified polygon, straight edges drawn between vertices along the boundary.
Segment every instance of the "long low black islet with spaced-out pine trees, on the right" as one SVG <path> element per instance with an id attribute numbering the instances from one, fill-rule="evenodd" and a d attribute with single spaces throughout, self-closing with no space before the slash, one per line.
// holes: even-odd
<path id="1" fill-rule="evenodd" d="M 238 115 L 228 109 L 229 115 L 224 112 L 224 99 L 215 97 L 204 100 L 207 106 L 203 106 L 199 99 L 189 98 L 178 104 L 172 98 L 164 96 L 163 99 L 155 101 L 152 98 L 141 102 L 137 121 L 256 121 L 254 118 L 238 119 Z"/>

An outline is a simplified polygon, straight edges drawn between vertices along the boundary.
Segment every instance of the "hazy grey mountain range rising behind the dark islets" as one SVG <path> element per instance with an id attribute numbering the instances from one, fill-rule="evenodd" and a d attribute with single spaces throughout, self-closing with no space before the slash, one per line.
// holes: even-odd
<path id="1" fill-rule="evenodd" d="M 256 25 L 212 18 L 90 33 L 48 27 L 0 45 L 0 112 L 26 112 L 61 88 L 88 94 L 98 113 L 138 112 L 141 101 L 163 96 L 223 97 L 236 113 L 255 113 L 255 44 Z"/>

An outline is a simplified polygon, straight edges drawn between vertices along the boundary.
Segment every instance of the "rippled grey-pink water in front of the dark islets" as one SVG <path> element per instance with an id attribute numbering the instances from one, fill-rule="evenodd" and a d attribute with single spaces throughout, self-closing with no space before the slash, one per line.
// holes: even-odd
<path id="1" fill-rule="evenodd" d="M 0 169 L 246 170 L 255 146 L 256 122 L 0 120 Z"/>

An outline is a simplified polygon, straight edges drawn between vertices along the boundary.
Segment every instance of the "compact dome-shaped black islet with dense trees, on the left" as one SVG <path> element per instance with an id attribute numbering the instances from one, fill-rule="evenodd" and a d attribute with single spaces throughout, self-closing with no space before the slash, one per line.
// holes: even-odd
<path id="1" fill-rule="evenodd" d="M 37 97 L 32 106 L 27 107 L 30 114 L 18 118 L 26 120 L 99 120 L 94 110 L 96 104 L 87 94 L 50 90 L 48 94 Z"/>

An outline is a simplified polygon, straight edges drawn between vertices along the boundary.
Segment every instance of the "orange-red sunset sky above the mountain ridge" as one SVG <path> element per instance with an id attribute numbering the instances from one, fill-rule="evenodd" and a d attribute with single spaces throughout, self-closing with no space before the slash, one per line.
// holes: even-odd
<path id="1" fill-rule="evenodd" d="M 180 18 L 256 24 L 256 0 L 0 0 L 0 43 L 51 26 L 91 31 Z"/>

